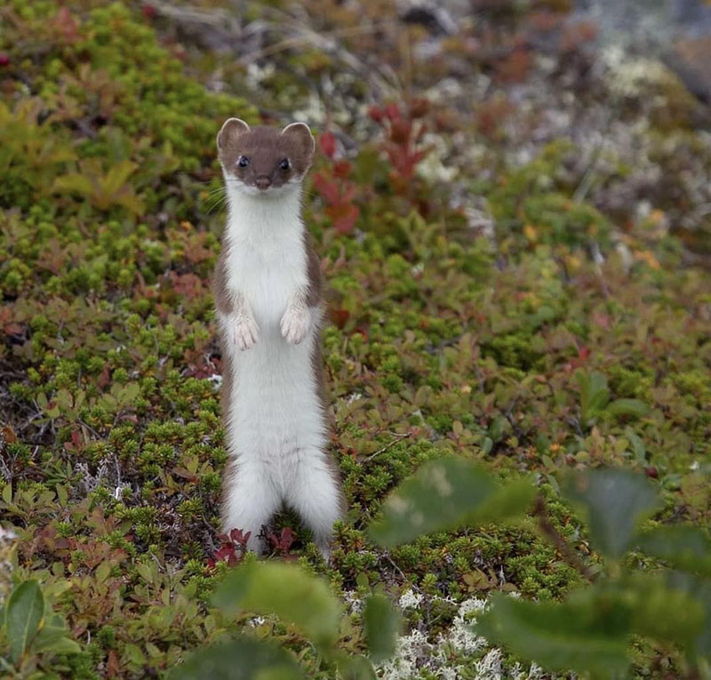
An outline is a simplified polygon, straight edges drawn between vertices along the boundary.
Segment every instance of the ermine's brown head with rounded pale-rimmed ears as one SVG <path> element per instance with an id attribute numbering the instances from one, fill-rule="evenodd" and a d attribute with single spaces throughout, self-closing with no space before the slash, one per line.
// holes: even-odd
<path id="1" fill-rule="evenodd" d="M 217 136 L 220 164 L 228 185 L 252 195 L 277 195 L 299 186 L 314 157 L 316 143 L 308 125 L 292 123 L 284 130 L 251 128 L 229 118 Z"/>

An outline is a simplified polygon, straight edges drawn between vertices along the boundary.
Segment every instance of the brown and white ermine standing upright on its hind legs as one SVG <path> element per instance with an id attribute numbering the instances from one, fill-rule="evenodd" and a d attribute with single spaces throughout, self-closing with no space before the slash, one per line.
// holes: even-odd
<path id="1" fill-rule="evenodd" d="M 301 187 L 316 148 L 308 125 L 253 129 L 230 118 L 217 137 L 228 223 L 214 277 L 222 346 L 228 466 L 225 532 L 260 533 L 283 505 L 330 555 L 342 513 L 328 452 L 321 268 L 301 219 Z"/>

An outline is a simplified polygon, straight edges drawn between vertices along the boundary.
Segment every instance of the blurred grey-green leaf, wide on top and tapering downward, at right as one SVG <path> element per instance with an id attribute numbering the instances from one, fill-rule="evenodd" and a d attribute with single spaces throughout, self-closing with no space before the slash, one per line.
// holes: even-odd
<path id="1" fill-rule="evenodd" d="M 654 484 L 629 470 L 573 473 L 563 480 L 561 490 L 586 513 L 595 550 L 613 559 L 631 548 L 640 518 L 659 506 Z"/>

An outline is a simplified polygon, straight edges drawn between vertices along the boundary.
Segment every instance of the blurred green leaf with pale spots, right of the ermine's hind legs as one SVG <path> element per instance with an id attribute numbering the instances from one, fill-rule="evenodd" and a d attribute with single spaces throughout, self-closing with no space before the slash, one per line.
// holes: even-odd
<path id="1" fill-rule="evenodd" d="M 391 548 L 429 532 L 522 516 L 534 495 L 528 480 L 499 487 L 493 476 L 470 461 L 434 460 L 387 497 L 383 517 L 369 533 L 373 541 Z"/>

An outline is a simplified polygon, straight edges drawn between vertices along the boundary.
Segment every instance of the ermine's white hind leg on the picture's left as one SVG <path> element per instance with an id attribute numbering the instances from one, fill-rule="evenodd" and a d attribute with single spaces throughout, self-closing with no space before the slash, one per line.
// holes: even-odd
<path id="1" fill-rule="evenodd" d="M 222 489 L 222 527 L 251 532 L 247 548 L 261 555 L 260 532 L 279 509 L 280 498 L 268 470 L 259 463 L 229 463 Z"/>

